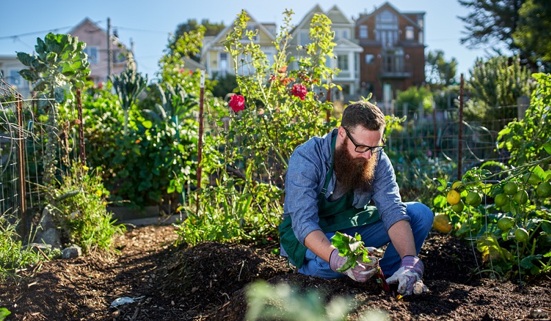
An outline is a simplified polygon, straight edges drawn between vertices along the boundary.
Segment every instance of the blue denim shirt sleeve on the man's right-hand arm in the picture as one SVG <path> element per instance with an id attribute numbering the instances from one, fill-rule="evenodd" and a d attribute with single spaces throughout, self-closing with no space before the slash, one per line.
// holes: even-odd
<path id="1" fill-rule="evenodd" d="M 401 200 L 394 168 L 384 152 L 380 154 L 372 186 L 372 200 L 379 209 L 379 215 L 387 231 L 399 220 L 410 220 L 410 217 L 405 214 L 405 204 Z"/>

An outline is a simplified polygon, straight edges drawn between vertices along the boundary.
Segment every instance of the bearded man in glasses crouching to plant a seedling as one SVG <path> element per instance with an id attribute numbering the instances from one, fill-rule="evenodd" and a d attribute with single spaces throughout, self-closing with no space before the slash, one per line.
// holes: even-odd
<path id="1" fill-rule="evenodd" d="M 368 101 L 345 108 L 341 126 L 297 147 L 285 176 L 281 255 L 299 273 L 321 278 L 349 276 L 365 282 L 377 263 L 399 293 L 427 290 L 421 245 L 434 214 L 421 203 L 402 203 L 390 159 L 383 152 L 385 116 Z M 370 202 L 374 206 L 370 206 Z M 383 258 L 337 272 L 345 258 L 332 245 L 336 231 L 361 235 L 366 247 L 387 245 Z"/>

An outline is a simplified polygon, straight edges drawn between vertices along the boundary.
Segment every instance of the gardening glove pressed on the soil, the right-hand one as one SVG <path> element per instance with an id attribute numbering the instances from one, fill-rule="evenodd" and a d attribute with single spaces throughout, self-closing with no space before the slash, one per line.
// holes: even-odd
<path id="1" fill-rule="evenodd" d="M 394 272 L 386 282 L 398 283 L 398 293 L 409 296 L 411 293 L 421 294 L 428 291 L 423 284 L 425 267 L 417 256 L 404 256 L 398 271 Z"/>

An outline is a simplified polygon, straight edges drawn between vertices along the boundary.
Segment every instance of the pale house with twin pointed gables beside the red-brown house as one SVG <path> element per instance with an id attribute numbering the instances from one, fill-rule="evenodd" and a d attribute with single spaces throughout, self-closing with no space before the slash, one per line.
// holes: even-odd
<path id="1" fill-rule="evenodd" d="M 342 92 L 334 88 L 332 100 L 348 101 L 357 98 L 359 94 L 360 66 L 359 58 L 363 49 L 357 44 L 354 37 L 354 21 L 348 19 L 346 15 L 337 6 L 332 6 L 328 11 L 323 12 L 319 5 L 314 6 L 303 19 L 293 28 L 291 35 L 291 52 L 294 55 L 299 54 L 296 49 L 298 45 L 307 45 L 310 43 L 310 23 L 314 14 L 325 14 L 331 21 L 331 30 L 334 32 L 333 48 L 335 59 L 328 59 L 326 66 L 339 69 L 339 73 L 334 76 L 332 82 L 342 87 Z M 291 68 L 297 68 L 293 63 Z M 354 98 L 352 98 L 354 97 Z"/>

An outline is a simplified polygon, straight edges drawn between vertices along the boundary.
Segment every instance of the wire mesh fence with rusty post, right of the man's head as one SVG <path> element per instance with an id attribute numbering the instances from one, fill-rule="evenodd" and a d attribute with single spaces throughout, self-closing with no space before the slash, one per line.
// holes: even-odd
<path id="1" fill-rule="evenodd" d="M 386 149 L 403 198 L 423 197 L 423 190 L 432 178 L 461 179 L 468 169 L 487 161 L 506 163 L 510 155 L 499 148 L 499 131 L 518 114 L 523 114 L 524 108 L 512 105 L 476 110 L 471 107 L 464 108 L 463 115 L 459 107 L 433 107 L 427 111 L 399 106 L 386 111 L 400 118 L 406 116 L 401 129 L 388 137 Z"/>

